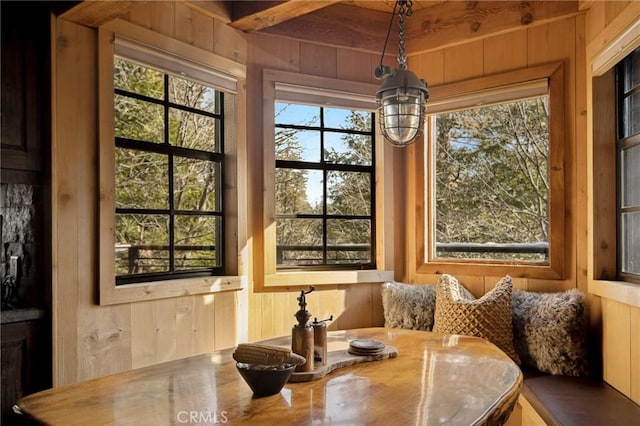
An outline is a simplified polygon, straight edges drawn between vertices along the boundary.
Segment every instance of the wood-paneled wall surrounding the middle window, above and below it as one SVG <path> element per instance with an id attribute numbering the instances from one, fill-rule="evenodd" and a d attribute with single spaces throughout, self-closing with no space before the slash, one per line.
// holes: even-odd
<path id="1" fill-rule="evenodd" d="M 262 156 L 262 70 L 275 69 L 344 80 L 375 82 L 373 70 L 379 57 L 369 53 L 299 42 L 274 36 L 247 36 L 247 121 L 250 173 L 249 210 L 252 236 L 251 277 L 263 274 L 263 156 Z M 253 279 L 250 282 L 253 283 Z M 255 290 L 255 291 L 254 291 Z M 249 340 L 291 333 L 298 310 L 299 288 L 263 291 L 250 285 Z M 380 284 L 317 286 L 307 297 L 308 310 L 318 319 L 334 316 L 329 329 L 347 329 L 383 325 Z"/>

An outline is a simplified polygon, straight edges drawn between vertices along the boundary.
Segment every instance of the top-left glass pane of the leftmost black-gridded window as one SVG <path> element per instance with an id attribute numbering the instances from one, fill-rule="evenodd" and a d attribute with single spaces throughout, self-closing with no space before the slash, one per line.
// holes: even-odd
<path id="1" fill-rule="evenodd" d="M 117 89 L 149 96 L 164 97 L 164 74 L 120 58 L 113 61 L 113 84 Z"/>

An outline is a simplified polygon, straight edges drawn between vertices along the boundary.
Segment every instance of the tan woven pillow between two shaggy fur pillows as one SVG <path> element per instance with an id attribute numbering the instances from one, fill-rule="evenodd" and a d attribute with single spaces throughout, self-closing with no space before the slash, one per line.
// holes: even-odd
<path id="1" fill-rule="evenodd" d="M 465 297 L 464 287 L 451 275 L 442 275 L 436 285 L 433 331 L 487 339 L 520 364 L 513 347 L 511 324 L 511 277 L 502 278 L 480 299 Z M 468 293 L 467 293 L 468 294 Z"/>

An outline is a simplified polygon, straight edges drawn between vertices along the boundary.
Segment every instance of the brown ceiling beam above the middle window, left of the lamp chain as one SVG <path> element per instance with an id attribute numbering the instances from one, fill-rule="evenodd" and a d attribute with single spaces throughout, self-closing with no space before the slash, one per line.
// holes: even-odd
<path id="1" fill-rule="evenodd" d="M 389 19 L 390 13 L 338 3 L 264 28 L 260 33 L 380 54 Z M 389 54 L 398 51 L 397 17 L 395 21 L 387 46 Z"/>

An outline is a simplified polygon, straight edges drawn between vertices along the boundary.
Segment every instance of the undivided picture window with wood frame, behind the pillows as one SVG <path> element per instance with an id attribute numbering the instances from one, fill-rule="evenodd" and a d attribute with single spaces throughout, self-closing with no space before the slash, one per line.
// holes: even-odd
<path id="1" fill-rule="evenodd" d="M 431 89 L 419 272 L 562 276 L 562 85 L 551 64 Z"/>

